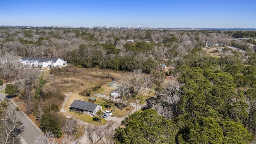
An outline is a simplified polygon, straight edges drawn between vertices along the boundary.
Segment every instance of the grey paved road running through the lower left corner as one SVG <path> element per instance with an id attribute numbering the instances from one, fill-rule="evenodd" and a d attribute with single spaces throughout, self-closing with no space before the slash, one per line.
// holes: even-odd
<path id="1" fill-rule="evenodd" d="M 4 100 L 6 96 L 0 93 L 0 99 Z M 10 100 L 10 99 L 9 99 Z M 12 100 L 11 100 L 12 101 Z M 14 103 L 12 101 L 12 103 Z M 16 106 L 16 104 L 14 105 Z M 25 142 L 23 144 L 32 144 L 34 140 L 36 140 L 36 136 L 42 134 L 42 132 L 38 129 L 38 127 L 24 114 L 24 112 L 18 112 L 18 118 L 22 122 L 22 126 L 24 127 L 21 136 Z"/>

